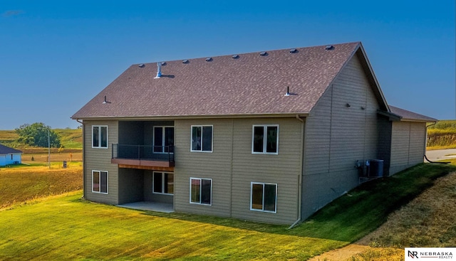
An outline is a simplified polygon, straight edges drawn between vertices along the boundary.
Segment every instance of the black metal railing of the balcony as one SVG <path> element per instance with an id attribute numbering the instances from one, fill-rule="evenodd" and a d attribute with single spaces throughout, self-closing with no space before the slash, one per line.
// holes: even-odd
<path id="1" fill-rule="evenodd" d="M 113 159 L 167 161 L 174 165 L 174 146 L 113 144 Z"/>

